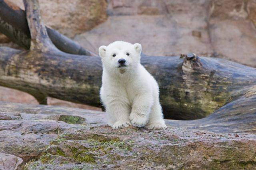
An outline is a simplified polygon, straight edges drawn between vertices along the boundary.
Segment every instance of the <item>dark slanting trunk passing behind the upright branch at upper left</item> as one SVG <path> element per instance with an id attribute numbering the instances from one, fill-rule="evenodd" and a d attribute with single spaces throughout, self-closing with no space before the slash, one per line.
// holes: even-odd
<path id="1" fill-rule="evenodd" d="M 46 30 L 52 43 L 60 51 L 76 55 L 96 55 L 58 31 L 48 27 Z M 26 20 L 26 12 L 8 0 L 0 0 L 0 32 L 20 47 L 30 48 L 30 30 Z"/>

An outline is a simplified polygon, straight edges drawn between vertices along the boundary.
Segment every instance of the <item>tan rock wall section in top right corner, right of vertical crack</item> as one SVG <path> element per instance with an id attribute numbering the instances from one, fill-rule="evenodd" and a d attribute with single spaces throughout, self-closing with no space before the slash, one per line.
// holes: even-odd
<path id="1" fill-rule="evenodd" d="M 212 0 L 209 11 L 214 56 L 256 67 L 256 1 Z"/>

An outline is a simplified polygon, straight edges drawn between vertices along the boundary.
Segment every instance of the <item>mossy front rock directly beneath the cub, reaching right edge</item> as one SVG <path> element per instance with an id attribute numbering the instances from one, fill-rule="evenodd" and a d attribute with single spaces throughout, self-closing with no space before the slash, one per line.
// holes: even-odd
<path id="1" fill-rule="evenodd" d="M 46 169 L 253 169 L 256 136 L 168 128 L 75 127 L 46 149 L 31 170 Z"/>

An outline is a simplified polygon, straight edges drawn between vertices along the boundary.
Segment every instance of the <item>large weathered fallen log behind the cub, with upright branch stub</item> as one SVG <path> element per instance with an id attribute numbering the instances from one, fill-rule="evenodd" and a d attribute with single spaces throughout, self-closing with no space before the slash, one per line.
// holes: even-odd
<path id="1" fill-rule="evenodd" d="M 35 5 L 34 0 L 30 1 Z M 32 5 L 30 3 L 26 5 Z M 0 48 L 0 85 L 27 92 L 40 104 L 46 104 L 49 96 L 100 107 L 100 57 L 58 50 L 38 17 L 38 6 L 35 9 L 31 11 L 26 7 L 30 51 Z M 166 119 L 200 119 L 248 94 L 256 95 L 256 69 L 231 61 L 190 54 L 143 55 L 141 62 L 158 81 Z M 244 111 L 255 105 L 252 101 Z M 232 113 L 237 110 L 229 109 Z"/>

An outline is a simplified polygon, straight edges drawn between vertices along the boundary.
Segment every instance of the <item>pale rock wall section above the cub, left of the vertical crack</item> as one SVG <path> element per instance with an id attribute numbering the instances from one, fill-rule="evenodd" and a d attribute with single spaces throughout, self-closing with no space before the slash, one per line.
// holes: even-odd
<path id="1" fill-rule="evenodd" d="M 143 52 L 153 56 L 191 51 L 198 55 L 213 53 L 207 30 L 207 0 L 169 1 L 167 4 L 157 0 L 136 1 L 139 6 L 130 5 L 132 2 L 128 0 L 122 2 L 123 6 L 108 7 L 110 16 L 106 22 L 77 35 L 75 40 L 94 52 L 100 45 L 123 40 L 141 43 Z M 159 15 L 140 15 L 137 8 L 159 8 Z"/>

